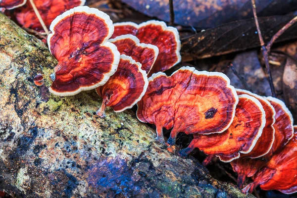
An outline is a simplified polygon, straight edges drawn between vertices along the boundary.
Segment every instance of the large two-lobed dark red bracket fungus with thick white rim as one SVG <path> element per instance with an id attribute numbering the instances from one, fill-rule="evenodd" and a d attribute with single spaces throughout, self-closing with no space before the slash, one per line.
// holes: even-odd
<path id="1" fill-rule="evenodd" d="M 72 96 L 107 82 L 120 59 L 116 46 L 107 42 L 113 28 L 107 14 L 88 6 L 75 7 L 54 19 L 48 44 L 58 65 L 50 93 Z"/>

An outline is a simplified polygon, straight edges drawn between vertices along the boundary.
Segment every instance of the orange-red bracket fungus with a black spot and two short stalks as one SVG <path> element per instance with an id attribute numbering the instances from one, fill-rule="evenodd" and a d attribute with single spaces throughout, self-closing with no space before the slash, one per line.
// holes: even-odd
<path id="1" fill-rule="evenodd" d="M 162 129 L 173 127 L 167 142 L 173 145 L 178 132 L 222 133 L 232 123 L 237 103 L 226 75 L 187 66 L 171 76 L 158 72 L 148 79 L 147 92 L 137 103 L 137 117 L 156 125 L 160 142 Z"/>

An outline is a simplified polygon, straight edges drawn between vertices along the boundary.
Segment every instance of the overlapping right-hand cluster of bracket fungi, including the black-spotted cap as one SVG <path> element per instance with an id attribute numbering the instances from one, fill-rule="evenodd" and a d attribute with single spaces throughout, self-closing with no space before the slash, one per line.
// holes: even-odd
<path id="1" fill-rule="evenodd" d="M 280 99 L 235 89 L 222 73 L 182 67 L 171 76 L 153 74 L 137 105 L 138 119 L 155 124 L 161 143 L 162 129 L 172 129 L 168 150 L 179 132 L 193 134 L 190 145 L 179 150 L 181 156 L 198 148 L 208 155 L 204 165 L 215 156 L 231 162 L 240 188 L 253 176 L 254 182 L 243 191 L 260 185 L 264 190 L 297 192 L 293 118 Z M 282 181 L 287 174 L 290 184 Z"/>

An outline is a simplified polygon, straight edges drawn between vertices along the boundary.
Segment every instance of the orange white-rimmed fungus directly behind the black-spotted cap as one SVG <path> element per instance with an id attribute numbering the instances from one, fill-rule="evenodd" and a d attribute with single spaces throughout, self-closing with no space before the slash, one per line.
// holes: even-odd
<path id="1" fill-rule="evenodd" d="M 204 164 L 212 157 L 218 156 L 223 162 L 230 162 L 240 157 L 240 153 L 249 153 L 254 148 L 265 126 L 265 111 L 261 103 L 246 94 L 239 96 L 235 117 L 230 127 L 221 134 L 199 135 L 188 148 L 180 150 L 180 155 L 189 154 L 194 148 L 199 148 L 210 155 Z"/>

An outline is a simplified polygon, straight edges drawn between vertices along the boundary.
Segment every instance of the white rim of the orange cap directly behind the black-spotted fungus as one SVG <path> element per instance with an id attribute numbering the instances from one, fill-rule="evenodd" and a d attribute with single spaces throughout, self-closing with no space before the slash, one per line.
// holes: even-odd
<path id="1" fill-rule="evenodd" d="M 258 139 L 259 139 L 260 136 L 262 135 L 263 128 L 264 128 L 264 126 L 265 126 L 265 124 L 266 124 L 265 111 L 264 111 L 264 108 L 263 108 L 262 104 L 260 103 L 260 101 L 259 101 L 258 99 L 254 98 L 254 97 L 252 97 L 252 96 L 249 96 L 249 95 L 247 95 L 247 94 L 239 95 L 238 98 L 239 98 L 239 99 L 241 99 L 241 98 L 249 99 L 249 100 L 253 101 L 253 102 L 260 108 L 260 110 L 261 110 L 261 112 L 262 112 L 262 116 L 261 116 L 262 123 L 261 123 L 261 126 L 259 127 L 259 130 L 258 130 L 257 135 L 255 136 L 254 140 L 252 141 L 252 143 L 251 143 L 251 145 L 250 145 L 250 147 L 248 148 L 247 151 L 239 151 L 239 152 L 237 152 L 238 155 L 236 155 L 235 157 L 230 158 L 229 160 L 222 160 L 221 156 L 216 155 L 217 157 L 220 158 L 220 160 L 221 160 L 222 162 L 226 162 L 226 163 L 227 163 L 227 162 L 231 162 L 231 161 L 233 161 L 234 159 L 238 159 L 238 158 L 240 157 L 240 153 L 245 153 L 245 154 L 249 153 L 249 152 L 254 148 L 254 146 L 256 145 L 256 143 L 257 143 L 257 141 L 258 141 Z"/>

